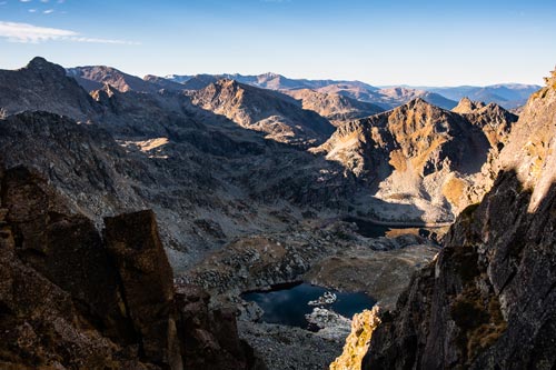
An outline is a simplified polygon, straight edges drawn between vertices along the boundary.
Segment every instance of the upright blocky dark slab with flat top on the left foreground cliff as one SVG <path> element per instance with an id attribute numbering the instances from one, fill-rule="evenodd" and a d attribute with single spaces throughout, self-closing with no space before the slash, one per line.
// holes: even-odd
<path id="1" fill-rule="evenodd" d="M 173 308 L 172 270 L 152 211 L 105 219 L 106 249 L 116 262 L 128 314 L 153 363 L 182 368 Z"/>

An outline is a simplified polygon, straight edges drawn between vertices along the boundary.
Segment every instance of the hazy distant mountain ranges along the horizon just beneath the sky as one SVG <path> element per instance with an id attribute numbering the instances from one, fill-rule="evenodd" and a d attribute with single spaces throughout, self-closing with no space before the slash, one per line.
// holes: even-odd
<path id="1" fill-rule="evenodd" d="M 395 86 L 378 88 L 360 81 L 290 79 L 277 73 L 264 73 L 258 76 L 244 76 L 238 73 L 196 76 L 170 74 L 163 78 L 149 74 L 141 79 L 103 66 L 77 67 L 68 69 L 67 71 L 69 76 L 76 78 L 79 84 L 88 91 L 98 90 L 103 83 L 109 83 L 121 92 L 130 90 L 138 92 L 156 92 L 160 89 L 173 91 L 202 90 L 219 80 L 229 79 L 242 84 L 276 90 L 294 96 L 301 101 L 306 109 L 315 107 L 316 111 L 319 113 L 321 113 L 320 110 L 322 110 L 322 104 L 315 104 L 315 99 L 318 97 L 318 100 L 328 100 L 325 102 L 325 109 L 331 110 L 334 113 L 340 112 L 340 116 L 329 117 L 331 121 L 338 118 L 360 118 L 369 111 L 376 113 L 380 110 L 394 109 L 417 98 L 448 110 L 455 108 L 457 102 L 463 98 L 484 101 L 485 103 L 494 102 L 506 109 L 515 109 L 524 106 L 527 98 L 540 88 L 534 84 L 519 83 L 495 84 L 488 87 L 461 86 L 439 88 Z M 317 94 L 309 94 L 308 90 Z M 300 91 L 304 92 L 301 93 Z M 318 96 L 322 93 L 326 94 L 326 97 Z M 345 99 L 340 99 L 340 97 L 351 100 L 346 101 Z M 349 109 L 346 110 L 345 106 L 354 106 L 354 100 L 371 103 L 373 107 L 359 106 L 355 111 L 349 111 Z M 330 107 L 330 104 L 334 106 L 335 103 L 338 103 L 339 107 Z"/>

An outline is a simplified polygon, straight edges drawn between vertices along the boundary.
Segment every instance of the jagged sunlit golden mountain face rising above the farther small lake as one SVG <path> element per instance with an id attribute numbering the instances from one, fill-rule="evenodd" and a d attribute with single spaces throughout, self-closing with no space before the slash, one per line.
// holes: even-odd
<path id="1" fill-rule="evenodd" d="M 339 127 L 315 151 L 375 189 L 383 204 L 374 203 L 373 217 L 400 221 L 399 214 L 388 214 L 386 202 L 413 208 L 405 221 L 446 222 L 469 203 L 466 189 L 493 150 L 485 131 L 505 132 L 510 126 L 490 108 L 475 114 L 457 114 L 417 99 Z"/>

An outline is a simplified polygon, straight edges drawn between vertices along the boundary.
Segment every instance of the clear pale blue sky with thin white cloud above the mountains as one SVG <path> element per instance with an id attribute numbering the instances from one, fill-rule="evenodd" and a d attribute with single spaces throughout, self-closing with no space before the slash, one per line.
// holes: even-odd
<path id="1" fill-rule="evenodd" d="M 0 0 L 0 69 L 276 72 L 375 86 L 543 84 L 554 0 Z"/>

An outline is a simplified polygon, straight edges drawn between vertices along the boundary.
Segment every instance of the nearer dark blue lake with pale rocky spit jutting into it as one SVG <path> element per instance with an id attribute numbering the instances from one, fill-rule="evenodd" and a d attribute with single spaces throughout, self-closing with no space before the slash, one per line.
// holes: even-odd
<path id="1" fill-rule="evenodd" d="M 322 307 L 348 319 L 351 319 L 355 313 L 373 308 L 376 303 L 373 298 L 365 293 L 338 292 L 307 283 L 281 287 L 271 291 L 244 293 L 241 297 L 246 301 L 256 302 L 265 311 L 261 318 L 264 322 L 307 329 L 308 322 L 305 314 L 311 313 L 315 308 L 307 303 L 317 300 L 327 291 L 336 293 L 338 299 L 332 304 Z"/>

